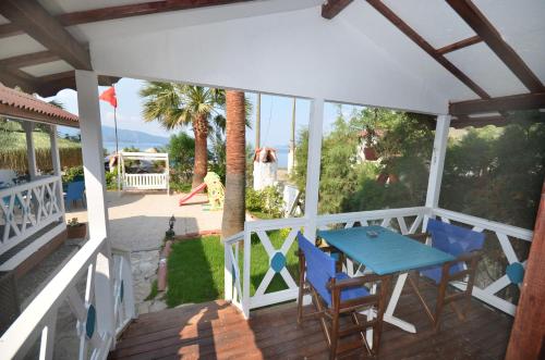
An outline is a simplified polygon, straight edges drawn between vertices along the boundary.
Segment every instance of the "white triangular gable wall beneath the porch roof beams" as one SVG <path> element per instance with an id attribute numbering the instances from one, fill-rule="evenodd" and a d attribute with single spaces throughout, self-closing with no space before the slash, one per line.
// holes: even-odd
<path id="1" fill-rule="evenodd" d="M 408 67 L 376 38 L 371 41 L 359 22 L 382 15 L 365 8 L 363 16 L 354 18 L 352 10 L 334 21 L 324 20 L 314 7 L 96 39 L 90 42 L 93 65 L 108 75 L 429 113 L 446 113 L 452 92 L 465 91 L 447 72 L 437 72 L 440 65 L 427 54 L 421 54 L 420 69 Z M 388 25 L 384 22 L 375 25 Z M 424 70 L 429 66 L 443 76 L 440 82 L 427 79 Z"/>

